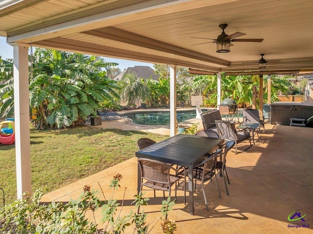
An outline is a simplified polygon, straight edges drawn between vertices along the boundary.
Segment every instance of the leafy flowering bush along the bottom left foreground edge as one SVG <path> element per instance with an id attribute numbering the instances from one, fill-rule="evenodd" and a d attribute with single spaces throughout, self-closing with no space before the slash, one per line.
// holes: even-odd
<path id="1" fill-rule="evenodd" d="M 0 232 L 2 234 L 120 234 L 129 227 L 133 228 L 133 233 L 148 234 L 157 221 L 161 220 L 162 231 L 173 234 L 176 224 L 167 219 L 168 212 L 173 210 L 172 207 L 175 205 L 170 197 L 162 202 L 161 217 L 165 216 L 164 220 L 160 217 L 152 223 L 147 223 L 147 214 L 142 208 L 141 212 L 139 210 L 140 206 L 148 205 L 149 198 L 144 198 L 141 192 L 135 196 L 133 202 L 137 212 L 131 211 L 124 216 L 117 212 L 119 208 L 122 209 L 124 199 L 122 204 L 117 203 L 117 199 L 113 199 L 113 194 L 120 187 L 121 178 L 122 176 L 117 174 L 111 181 L 110 188 L 113 192 L 112 198 L 108 200 L 100 199 L 97 195 L 98 191 L 90 191 L 90 186 L 85 186 L 78 200 L 70 200 L 68 203 L 51 202 L 46 205 L 40 203 L 43 190 L 39 189 L 31 198 L 17 200 L 1 208 Z M 94 215 L 99 209 L 102 210 L 101 222 L 105 224 L 102 230 L 97 228 Z M 87 219 L 87 212 L 93 214 L 93 220 Z"/>

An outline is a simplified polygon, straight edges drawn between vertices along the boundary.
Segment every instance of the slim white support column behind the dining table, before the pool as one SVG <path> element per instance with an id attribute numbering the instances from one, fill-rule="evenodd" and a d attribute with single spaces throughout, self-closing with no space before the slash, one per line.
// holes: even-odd
<path id="1" fill-rule="evenodd" d="M 177 133 L 176 96 L 176 66 L 170 66 L 170 136 Z"/>

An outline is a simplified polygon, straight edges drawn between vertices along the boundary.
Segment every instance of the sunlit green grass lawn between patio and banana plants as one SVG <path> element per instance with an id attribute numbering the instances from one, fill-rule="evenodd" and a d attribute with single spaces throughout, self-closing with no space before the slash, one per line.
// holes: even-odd
<path id="1" fill-rule="evenodd" d="M 75 127 L 30 130 L 33 191 L 53 191 L 135 156 L 141 137 L 156 142 L 169 136 L 140 131 Z M 0 146 L 0 187 L 6 204 L 17 198 L 15 145 Z"/>

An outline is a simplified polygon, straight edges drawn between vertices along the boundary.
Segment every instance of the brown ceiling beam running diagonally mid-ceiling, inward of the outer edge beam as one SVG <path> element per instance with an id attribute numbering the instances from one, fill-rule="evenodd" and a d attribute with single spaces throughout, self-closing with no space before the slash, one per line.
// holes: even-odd
<path id="1" fill-rule="evenodd" d="M 197 59 L 203 62 L 212 63 L 212 64 L 218 64 L 223 66 L 229 66 L 229 62 L 218 59 L 212 56 L 207 56 L 205 54 L 201 54 L 192 50 L 184 49 L 172 44 L 167 44 L 163 42 L 159 42 L 147 37 L 140 36 L 138 34 L 134 34 L 131 32 L 127 32 L 118 28 L 114 27 L 106 27 L 96 30 L 89 30 L 86 32 L 83 32 L 84 34 L 88 34 L 91 36 L 96 36 L 100 38 L 106 38 L 113 41 L 118 41 L 122 43 L 128 43 L 136 46 L 141 46 L 148 49 L 154 49 L 170 54 L 175 54 L 191 59 Z"/>

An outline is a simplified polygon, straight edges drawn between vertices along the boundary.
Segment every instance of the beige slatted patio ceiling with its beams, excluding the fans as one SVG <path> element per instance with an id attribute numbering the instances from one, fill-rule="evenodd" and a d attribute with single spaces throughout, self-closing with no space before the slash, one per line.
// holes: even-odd
<path id="1" fill-rule="evenodd" d="M 288 73 L 313 70 L 312 0 L 4 0 L 0 35 L 8 43 L 74 51 L 208 71 Z M 229 53 L 216 53 L 216 39 L 246 33 Z M 197 43 L 204 43 L 193 45 Z"/>

